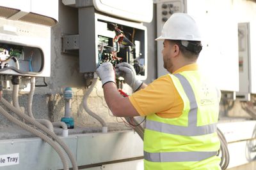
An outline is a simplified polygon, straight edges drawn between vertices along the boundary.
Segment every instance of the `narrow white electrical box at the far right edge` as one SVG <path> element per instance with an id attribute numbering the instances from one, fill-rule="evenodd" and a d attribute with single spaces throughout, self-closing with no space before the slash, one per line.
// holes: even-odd
<path id="1" fill-rule="evenodd" d="M 237 99 L 250 101 L 250 94 L 256 94 L 256 3 L 234 1 L 234 18 L 239 25 L 239 92 Z M 243 11 L 243 12 L 241 12 Z"/>

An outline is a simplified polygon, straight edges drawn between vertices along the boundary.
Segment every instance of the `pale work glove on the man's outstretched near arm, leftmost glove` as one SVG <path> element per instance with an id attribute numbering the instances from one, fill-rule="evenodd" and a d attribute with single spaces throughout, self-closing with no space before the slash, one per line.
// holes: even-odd
<path id="1" fill-rule="evenodd" d="M 114 82 L 116 83 L 116 76 L 115 76 L 115 71 L 113 68 L 113 65 L 111 62 L 104 62 L 101 64 L 97 70 L 96 73 L 100 77 L 100 80 L 102 82 L 102 87 L 108 83 L 108 82 Z"/>

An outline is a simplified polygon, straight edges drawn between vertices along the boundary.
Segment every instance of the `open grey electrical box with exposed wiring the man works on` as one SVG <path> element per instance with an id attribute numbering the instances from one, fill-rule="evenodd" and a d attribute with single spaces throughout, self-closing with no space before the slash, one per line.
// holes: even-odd
<path id="1" fill-rule="evenodd" d="M 122 32 L 122 34 L 120 34 Z M 95 72 L 102 62 L 128 62 L 140 80 L 147 78 L 147 28 L 79 8 L 79 62 L 82 73 Z"/>

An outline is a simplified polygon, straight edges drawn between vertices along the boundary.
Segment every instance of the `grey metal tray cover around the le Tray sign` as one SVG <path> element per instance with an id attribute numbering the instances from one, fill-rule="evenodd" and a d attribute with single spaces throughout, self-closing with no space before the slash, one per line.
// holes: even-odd
<path id="1" fill-rule="evenodd" d="M 76 156 L 76 138 L 63 138 L 74 156 Z M 0 155 L 19 153 L 19 164 L 3 166 L 0 170 L 45 170 L 62 169 L 61 159 L 58 153 L 48 143 L 38 138 L 13 139 L 0 141 Z M 71 164 L 70 164 L 71 167 Z"/>

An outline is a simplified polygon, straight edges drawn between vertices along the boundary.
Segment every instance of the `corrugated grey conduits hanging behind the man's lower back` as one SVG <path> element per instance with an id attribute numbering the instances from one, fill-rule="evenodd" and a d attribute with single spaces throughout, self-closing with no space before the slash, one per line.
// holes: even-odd
<path id="1" fill-rule="evenodd" d="M 218 134 L 218 137 L 220 138 L 220 144 L 221 144 L 220 151 L 218 153 L 218 154 L 220 154 L 220 152 L 221 152 L 220 166 L 221 166 L 222 170 L 225 170 L 225 169 L 227 169 L 229 160 L 230 160 L 230 156 L 229 156 L 229 152 L 228 152 L 228 144 L 227 144 L 227 140 L 226 140 L 225 136 L 218 128 L 217 128 L 217 134 Z"/>

